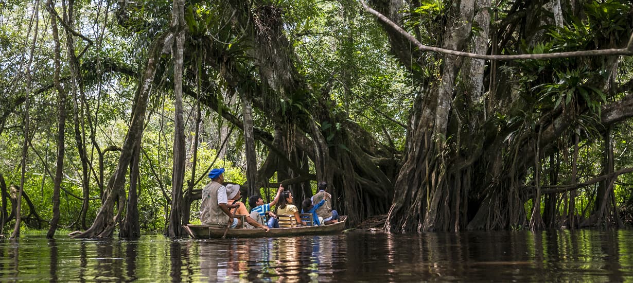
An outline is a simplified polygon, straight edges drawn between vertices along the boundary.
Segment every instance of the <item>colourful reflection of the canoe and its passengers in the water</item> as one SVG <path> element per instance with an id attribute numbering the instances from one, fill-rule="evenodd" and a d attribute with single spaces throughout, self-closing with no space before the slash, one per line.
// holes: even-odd
<path id="1" fill-rule="evenodd" d="M 332 237 L 207 240 L 200 244 L 201 274 L 211 281 L 310 282 L 331 278 L 333 253 L 346 244 Z M 340 263 L 339 263 L 340 265 Z"/>

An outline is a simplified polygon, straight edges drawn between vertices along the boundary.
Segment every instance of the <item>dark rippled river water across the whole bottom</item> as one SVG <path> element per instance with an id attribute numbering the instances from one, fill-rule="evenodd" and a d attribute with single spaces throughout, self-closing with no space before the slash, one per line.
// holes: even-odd
<path id="1" fill-rule="evenodd" d="M 633 282 L 633 231 L 0 240 L 1 281 Z"/>

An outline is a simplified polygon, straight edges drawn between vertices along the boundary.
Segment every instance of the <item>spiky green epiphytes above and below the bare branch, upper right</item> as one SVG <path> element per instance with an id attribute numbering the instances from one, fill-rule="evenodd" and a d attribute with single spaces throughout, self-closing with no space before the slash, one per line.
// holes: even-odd
<path id="1" fill-rule="evenodd" d="M 630 30 L 630 23 L 622 19 L 627 18 L 624 14 L 630 4 L 591 1 L 584 8 L 587 11 L 584 20 L 570 17 L 567 19 L 569 25 L 548 28 L 549 38 L 545 43 L 538 42 L 529 47 L 527 42 L 522 42 L 522 48 L 532 54 L 605 48 L 603 42 L 628 36 L 627 32 L 622 34 L 622 30 Z M 615 18 L 618 20 L 610 20 Z M 607 23 L 608 27 L 605 26 Z M 525 100 L 543 113 L 559 106 L 565 109 L 587 107 L 599 116 L 606 95 L 596 82 L 609 74 L 605 72 L 606 65 L 591 66 L 588 62 L 586 58 L 520 62 L 524 74 L 521 81 L 527 93 Z M 532 96 L 532 91 L 537 92 L 536 97 Z"/>

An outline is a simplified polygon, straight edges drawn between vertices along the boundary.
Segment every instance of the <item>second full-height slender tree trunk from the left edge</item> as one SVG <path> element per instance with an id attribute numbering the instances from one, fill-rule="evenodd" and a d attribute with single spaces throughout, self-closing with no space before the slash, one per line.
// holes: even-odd
<path id="1" fill-rule="evenodd" d="M 64 173 L 64 153 L 65 153 L 65 136 L 66 136 L 66 91 L 60 84 L 60 36 L 57 28 L 57 18 L 53 12 L 54 6 L 52 1 L 46 3 L 46 8 L 51 15 L 51 30 L 53 30 L 53 39 L 55 41 L 54 49 L 54 75 L 53 82 L 57 90 L 57 159 L 55 177 L 53 180 L 53 218 L 51 219 L 51 227 L 46 237 L 52 239 L 57 230 L 57 223 L 60 220 L 60 187 Z"/>

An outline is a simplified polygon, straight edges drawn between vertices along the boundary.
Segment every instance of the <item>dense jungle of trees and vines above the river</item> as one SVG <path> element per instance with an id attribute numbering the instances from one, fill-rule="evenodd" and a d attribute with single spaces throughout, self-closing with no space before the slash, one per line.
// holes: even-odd
<path id="1" fill-rule="evenodd" d="M 225 167 L 391 232 L 624 227 L 632 32 L 625 0 L 0 0 L 0 224 L 180 236 Z"/>

